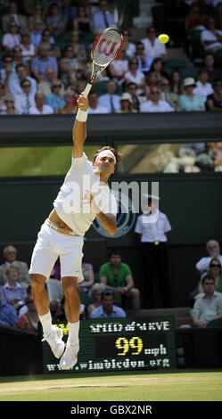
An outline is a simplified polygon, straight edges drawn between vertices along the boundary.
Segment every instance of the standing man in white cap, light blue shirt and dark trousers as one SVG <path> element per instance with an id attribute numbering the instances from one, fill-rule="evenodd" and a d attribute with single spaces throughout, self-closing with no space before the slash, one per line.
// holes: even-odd
<path id="1" fill-rule="evenodd" d="M 160 297 L 164 308 L 172 307 L 169 285 L 168 234 L 169 219 L 159 209 L 160 198 L 144 194 L 144 212 L 137 218 L 135 233 L 143 246 L 144 295 L 147 308 L 155 308 L 154 280 L 159 281 Z"/>

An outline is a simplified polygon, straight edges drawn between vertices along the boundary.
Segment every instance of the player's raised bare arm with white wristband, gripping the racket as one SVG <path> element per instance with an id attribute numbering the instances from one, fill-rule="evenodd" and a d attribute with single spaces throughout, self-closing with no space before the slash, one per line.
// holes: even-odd
<path id="1" fill-rule="evenodd" d="M 86 119 L 88 110 L 88 100 L 83 94 L 78 96 L 78 113 L 73 126 L 73 157 L 82 157 L 83 145 L 86 140 Z"/>

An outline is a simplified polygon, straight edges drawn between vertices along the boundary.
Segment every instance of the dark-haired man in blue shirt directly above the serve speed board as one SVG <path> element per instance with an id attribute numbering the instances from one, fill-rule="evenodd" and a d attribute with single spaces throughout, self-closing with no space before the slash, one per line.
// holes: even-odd
<path id="1" fill-rule="evenodd" d="M 95 308 L 90 318 L 102 317 L 126 317 L 125 311 L 114 305 L 114 294 L 111 290 L 105 290 L 102 294 L 102 305 Z"/>

